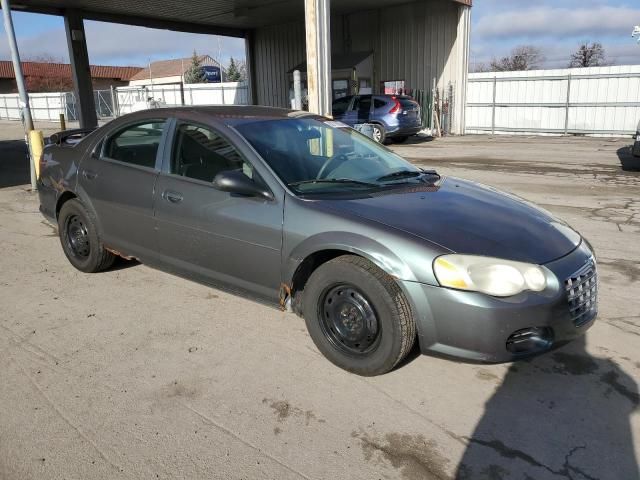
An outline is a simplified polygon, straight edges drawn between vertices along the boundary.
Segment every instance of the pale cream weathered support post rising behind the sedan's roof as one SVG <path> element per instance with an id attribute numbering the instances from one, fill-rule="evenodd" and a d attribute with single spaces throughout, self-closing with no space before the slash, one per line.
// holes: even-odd
<path id="1" fill-rule="evenodd" d="M 305 0 L 309 111 L 331 116 L 331 2 Z"/>

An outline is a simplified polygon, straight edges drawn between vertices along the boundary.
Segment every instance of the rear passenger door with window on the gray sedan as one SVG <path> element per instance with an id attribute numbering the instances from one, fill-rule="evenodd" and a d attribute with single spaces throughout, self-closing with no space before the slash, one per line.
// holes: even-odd
<path id="1" fill-rule="evenodd" d="M 127 124 L 107 134 L 79 169 L 79 188 L 93 205 L 104 243 L 141 259 L 155 248 L 153 194 L 166 132 L 166 119 Z"/>

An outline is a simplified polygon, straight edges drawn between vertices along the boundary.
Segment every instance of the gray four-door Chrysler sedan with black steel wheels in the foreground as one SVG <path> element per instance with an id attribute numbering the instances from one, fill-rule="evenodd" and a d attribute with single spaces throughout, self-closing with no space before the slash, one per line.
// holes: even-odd
<path id="1" fill-rule="evenodd" d="M 291 309 L 361 375 L 391 370 L 416 339 L 502 362 L 592 325 L 596 263 L 578 233 L 340 125 L 200 107 L 62 132 L 41 160 L 40 208 L 79 270 L 134 257 Z"/>

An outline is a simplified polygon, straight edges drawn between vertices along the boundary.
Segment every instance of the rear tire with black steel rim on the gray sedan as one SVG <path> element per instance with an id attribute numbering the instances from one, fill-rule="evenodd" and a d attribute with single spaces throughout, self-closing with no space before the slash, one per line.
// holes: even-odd
<path id="1" fill-rule="evenodd" d="M 101 272 L 113 265 L 115 255 L 104 248 L 93 216 L 79 200 L 62 205 L 58 234 L 67 259 L 81 272 Z"/>

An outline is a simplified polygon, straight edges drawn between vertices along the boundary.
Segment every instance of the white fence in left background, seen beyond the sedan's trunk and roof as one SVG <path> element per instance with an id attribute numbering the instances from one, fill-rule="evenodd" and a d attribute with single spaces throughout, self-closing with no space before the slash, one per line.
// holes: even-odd
<path id="1" fill-rule="evenodd" d="M 115 95 L 112 95 L 112 92 Z M 113 98 L 116 97 L 116 98 Z M 151 100 L 150 100 L 151 99 Z M 176 105 L 248 105 L 249 87 L 245 83 L 204 83 L 197 85 L 154 85 L 119 87 L 94 91 L 98 118 L 113 118 L 150 106 Z M 30 93 L 29 105 L 34 120 L 77 120 L 76 100 L 72 92 Z M 0 120 L 20 120 L 17 93 L 0 95 Z"/>

